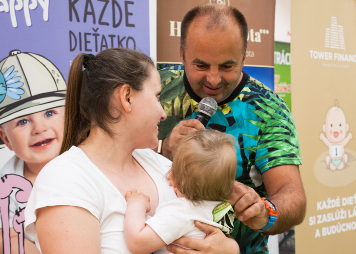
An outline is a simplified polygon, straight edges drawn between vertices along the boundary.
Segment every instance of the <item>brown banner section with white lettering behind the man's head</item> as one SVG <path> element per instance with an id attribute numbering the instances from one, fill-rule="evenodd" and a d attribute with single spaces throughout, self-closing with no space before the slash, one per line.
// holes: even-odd
<path id="1" fill-rule="evenodd" d="M 247 20 L 249 38 L 245 65 L 273 67 L 276 0 L 158 0 L 157 62 L 181 62 L 180 23 L 184 15 L 200 4 L 214 2 L 236 7 Z"/>

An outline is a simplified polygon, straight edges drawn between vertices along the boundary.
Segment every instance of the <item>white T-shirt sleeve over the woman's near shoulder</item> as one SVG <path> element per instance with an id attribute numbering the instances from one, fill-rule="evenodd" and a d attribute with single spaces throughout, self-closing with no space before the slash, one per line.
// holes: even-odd
<path id="1" fill-rule="evenodd" d="M 81 153 L 72 147 L 40 171 L 28 201 L 28 214 L 33 216 L 41 207 L 69 205 L 82 207 L 99 218 L 103 199 L 112 192 L 99 169 Z"/>

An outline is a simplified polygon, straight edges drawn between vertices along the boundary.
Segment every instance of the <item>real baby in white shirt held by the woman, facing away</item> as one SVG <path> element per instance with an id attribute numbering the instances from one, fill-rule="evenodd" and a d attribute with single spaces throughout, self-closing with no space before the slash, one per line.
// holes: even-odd
<path id="1" fill-rule="evenodd" d="M 169 179 L 178 198 L 150 211 L 150 198 L 135 189 L 126 193 L 125 241 L 137 254 L 170 253 L 166 245 L 181 236 L 204 239 L 195 220 L 231 234 L 234 210 L 228 203 L 237 169 L 233 136 L 216 130 L 199 130 L 182 138 L 173 157 Z"/>

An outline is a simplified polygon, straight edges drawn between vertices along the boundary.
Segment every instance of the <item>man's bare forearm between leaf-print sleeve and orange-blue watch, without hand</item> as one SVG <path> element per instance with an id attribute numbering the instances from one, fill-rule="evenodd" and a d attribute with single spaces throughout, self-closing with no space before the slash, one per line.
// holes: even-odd
<path id="1" fill-rule="evenodd" d="M 278 218 L 263 234 L 280 234 L 300 224 L 307 200 L 297 165 L 281 165 L 262 173 L 268 198 L 276 205 Z"/>

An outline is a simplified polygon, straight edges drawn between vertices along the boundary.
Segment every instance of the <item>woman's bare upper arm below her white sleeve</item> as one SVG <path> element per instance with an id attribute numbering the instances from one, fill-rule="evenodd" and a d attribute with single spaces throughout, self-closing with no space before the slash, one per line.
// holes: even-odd
<path id="1" fill-rule="evenodd" d="M 40 208 L 35 224 L 42 254 L 101 254 L 98 219 L 84 208 Z"/>

